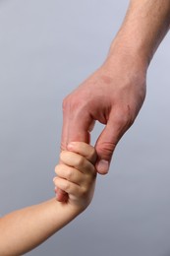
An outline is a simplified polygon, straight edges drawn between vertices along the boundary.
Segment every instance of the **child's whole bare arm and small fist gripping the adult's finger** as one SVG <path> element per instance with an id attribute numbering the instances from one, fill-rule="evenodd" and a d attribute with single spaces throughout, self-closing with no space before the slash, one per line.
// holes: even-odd
<path id="1" fill-rule="evenodd" d="M 1 218 L 0 256 L 28 252 L 85 210 L 94 192 L 95 160 L 93 147 L 85 143 L 71 143 L 61 153 L 53 181 L 67 193 L 67 200 L 61 203 L 53 198 Z"/>

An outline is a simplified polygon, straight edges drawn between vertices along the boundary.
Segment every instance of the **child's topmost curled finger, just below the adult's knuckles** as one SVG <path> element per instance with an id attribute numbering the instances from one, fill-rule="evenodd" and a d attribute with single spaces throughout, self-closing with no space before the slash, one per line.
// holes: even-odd
<path id="1" fill-rule="evenodd" d="M 97 159 L 94 148 L 84 142 L 72 142 L 68 145 L 67 149 L 84 156 L 86 160 L 89 160 L 93 164 Z"/>

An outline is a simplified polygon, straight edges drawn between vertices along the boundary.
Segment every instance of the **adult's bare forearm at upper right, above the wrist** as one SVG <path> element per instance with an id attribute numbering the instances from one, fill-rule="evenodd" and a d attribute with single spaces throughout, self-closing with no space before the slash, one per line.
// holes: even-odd
<path id="1" fill-rule="evenodd" d="M 124 60 L 127 57 L 146 69 L 169 25 L 170 0 L 131 0 L 109 57 L 119 55 Z"/>

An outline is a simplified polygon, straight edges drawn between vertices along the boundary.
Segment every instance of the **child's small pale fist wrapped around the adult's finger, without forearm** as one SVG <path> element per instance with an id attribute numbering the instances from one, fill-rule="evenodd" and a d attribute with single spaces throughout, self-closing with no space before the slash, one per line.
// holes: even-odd
<path id="1" fill-rule="evenodd" d="M 71 143 L 68 150 L 61 153 L 62 163 L 55 167 L 57 177 L 53 181 L 58 189 L 68 194 L 65 203 L 83 211 L 90 203 L 94 192 L 96 153 L 92 146 L 83 142 Z"/>

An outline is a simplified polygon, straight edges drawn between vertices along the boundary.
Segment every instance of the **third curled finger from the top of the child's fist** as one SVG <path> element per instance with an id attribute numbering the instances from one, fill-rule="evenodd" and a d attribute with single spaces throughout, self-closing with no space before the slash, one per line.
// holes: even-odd
<path id="1" fill-rule="evenodd" d="M 78 169 L 66 164 L 58 164 L 55 167 L 55 173 L 58 177 L 65 178 L 79 185 L 82 184 L 82 182 L 85 180 L 85 174 L 83 174 Z"/>

